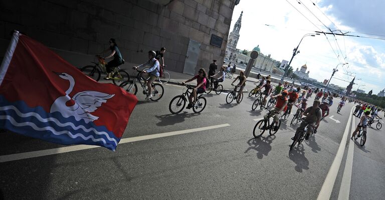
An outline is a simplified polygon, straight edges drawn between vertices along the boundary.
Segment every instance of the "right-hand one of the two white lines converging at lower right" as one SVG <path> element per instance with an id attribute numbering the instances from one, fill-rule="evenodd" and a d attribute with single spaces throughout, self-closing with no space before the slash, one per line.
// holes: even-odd
<path id="1" fill-rule="evenodd" d="M 354 129 L 355 129 L 355 120 L 353 118 L 350 133 L 352 133 Z M 345 169 L 343 170 L 341 186 L 339 188 L 339 193 L 338 193 L 339 200 L 349 199 L 351 171 L 353 169 L 353 153 L 354 153 L 354 142 L 349 139 L 349 148 L 347 150 Z"/>

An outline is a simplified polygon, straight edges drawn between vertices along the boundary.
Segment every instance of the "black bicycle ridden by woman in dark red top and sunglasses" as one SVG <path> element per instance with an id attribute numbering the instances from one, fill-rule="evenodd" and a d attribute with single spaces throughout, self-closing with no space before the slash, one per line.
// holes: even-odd
<path id="1" fill-rule="evenodd" d="M 184 91 L 181 95 L 173 97 L 170 104 L 168 105 L 168 110 L 172 114 L 178 114 L 184 109 L 186 102 L 188 102 L 188 94 L 191 94 L 192 90 L 194 89 L 194 87 L 188 85 L 185 86 L 187 87 L 186 91 Z M 207 101 L 206 98 L 202 95 L 203 94 L 197 96 L 197 102 L 193 106 L 194 113 L 201 113 L 206 108 Z"/>

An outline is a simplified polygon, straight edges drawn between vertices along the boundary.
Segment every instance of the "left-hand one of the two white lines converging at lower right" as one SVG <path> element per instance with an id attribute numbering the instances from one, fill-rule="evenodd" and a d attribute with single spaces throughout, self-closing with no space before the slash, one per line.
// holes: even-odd
<path id="1" fill-rule="evenodd" d="M 341 143 L 339 144 L 337 154 L 333 160 L 333 163 L 330 166 L 329 172 L 326 175 L 325 181 L 322 184 L 321 191 L 319 191 L 317 200 L 328 200 L 331 195 L 331 191 L 333 190 L 335 178 L 338 174 L 339 166 L 341 165 L 343 153 L 345 151 L 346 139 L 349 134 L 349 126 L 351 122 L 351 116 L 353 113 L 353 108 L 350 109 L 349 119 L 347 120 L 346 128 L 342 136 Z"/>

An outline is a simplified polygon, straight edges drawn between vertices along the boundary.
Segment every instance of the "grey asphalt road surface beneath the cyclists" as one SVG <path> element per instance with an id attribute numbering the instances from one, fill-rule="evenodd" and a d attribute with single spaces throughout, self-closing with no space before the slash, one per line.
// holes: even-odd
<path id="1" fill-rule="evenodd" d="M 355 128 L 359 121 L 350 115 L 353 104 L 347 104 L 337 114 L 339 99 L 335 99 L 331 114 L 321 122 L 318 133 L 289 152 L 290 138 L 297 128 L 290 126 L 292 115 L 275 136 L 264 133 L 255 139 L 252 133 L 255 119 L 261 119 L 265 111 L 251 111 L 254 98 L 245 95 L 241 104 L 228 105 L 226 93 L 208 94 L 205 95 L 208 105 L 201 114 L 184 110 L 172 115 L 168 104 L 182 89 L 165 85 L 165 94 L 159 102 L 145 101 L 139 90 L 139 103 L 123 138 L 166 134 L 153 139 L 134 138 L 132 142 L 119 144 L 115 152 L 99 147 L 60 153 L 56 148 L 66 146 L 0 133 L 0 188 L 4 199 L 383 199 L 385 196 L 383 129 L 368 129 L 364 147 L 350 141 L 350 125 L 354 121 Z M 197 128 L 202 129 L 191 131 Z M 345 129 L 348 137 L 343 140 Z M 183 130 L 187 133 L 177 132 Z M 179 134 L 172 135 L 176 133 Z M 39 155 L 36 151 L 46 149 L 55 149 L 57 153 L 4 162 L 5 155 L 16 157 L 23 152 Z M 337 166 L 334 175 L 332 165 Z"/>

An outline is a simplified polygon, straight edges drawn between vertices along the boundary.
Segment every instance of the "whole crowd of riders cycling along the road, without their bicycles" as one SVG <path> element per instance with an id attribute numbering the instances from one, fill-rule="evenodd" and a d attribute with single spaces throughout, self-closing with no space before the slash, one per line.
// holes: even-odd
<path id="1" fill-rule="evenodd" d="M 114 58 L 106 65 L 108 73 L 105 79 L 109 79 L 111 77 L 111 68 L 117 67 L 124 62 L 115 40 L 111 38 L 109 43 L 110 48 L 105 50 L 105 52 L 110 50 L 111 54 L 109 54 L 105 58 Z M 133 67 L 134 69 L 137 69 L 149 66 L 148 69 L 142 71 L 142 76 L 146 77 L 144 78 L 144 81 L 146 82 L 148 88 L 146 99 L 150 99 L 152 97 L 151 84 L 156 78 L 159 77 L 159 72 L 161 70 L 160 66 L 164 66 L 164 53 L 164 47 L 162 47 L 160 51 L 157 52 L 149 51 L 148 60 L 139 66 Z M 162 62 L 162 65 L 160 65 L 159 61 Z M 210 81 L 214 81 L 214 88 L 216 88 L 219 82 L 223 82 L 225 80 L 226 73 L 235 73 L 236 66 L 234 64 L 234 66 L 231 67 L 231 63 L 229 63 L 227 67 L 220 67 L 219 72 L 216 73 L 217 69 L 217 60 L 213 60 L 213 63 L 211 63 L 209 66 L 209 73 L 207 73 L 204 68 L 201 68 L 199 69 L 197 75 L 182 82 L 182 84 L 185 84 L 186 82 L 190 82 L 197 79 L 197 85 L 193 87 L 193 90 L 188 96 L 189 104 L 187 105 L 186 109 L 190 109 L 191 107 L 193 107 L 197 99 L 197 94 L 204 93 L 206 90 L 206 86 L 210 83 Z M 258 78 L 260 76 L 261 74 L 259 73 Z M 236 81 L 238 81 L 238 83 L 234 85 Z M 244 72 L 240 71 L 240 74 L 233 80 L 231 84 L 235 86 L 234 92 L 241 94 L 246 85 L 246 76 L 244 75 Z M 301 90 L 300 87 L 295 87 L 294 82 L 292 84 L 289 84 L 287 81 L 285 81 L 283 84 L 279 82 L 278 85 L 275 86 L 273 89 L 270 75 L 268 75 L 267 77 L 262 76 L 262 78 L 254 84 L 256 84 L 256 88 L 253 90 L 253 92 L 255 94 L 259 93 L 259 95 L 263 96 L 261 108 L 266 108 L 268 96 L 270 96 L 271 101 L 275 103 L 274 108 L 271 110 L 272 112 L 270 112 L 273 114 L 273 116 L 269 116 L 273 117 L 273 120 L 275 122 L 274 131 L 277 131 L 279 128 L 278 121 L 280 120 L 281 116 L 291 114 L 293 105 L 296 104 L 295 106 L 300 109 L 300 118 L 302 119 L 302 122 L 297 128 L 296 134 L 292 138 L 292 140 L 295 140 L 298 131 L 303 130 L 305 127 L 307 127 L 307 133 L 305 137 L 306 140 L 308 140 L 311 133 L 317 133 L 317 129 L 320 125 L 321 120 L 329 115 L 329 107 L 333 105 L 332 93 L 330 93 L 329 91 L 325 91 L 322 88 L 310 88 L 305 86 L 305 88 Z M 263 91 L 261 91 L 262 89 Z M 313 93 L 315 94 L 315 100 L 310 107 L 307 107 L 307 100 L 309 97 L 312 96 Z M 238 95 L 238 97 L 240 96 L 241 95 Z M 350 103 L 353 102 L 353 99 L 347 99 L 345 96 L 342 96 L 340 102 L 338 103 L 337 112 L 339 112 L 341 108 L 345 106 L 346 101 L 349 101 Z M 360 102 L 357 100 L 354 100 L 354 104 L 357 105 L 355 106 L 353 115 L 360 118 L 360 123 L 358 124 L 356 130 L 352 133 L 352 138 L 358 132 L 359 128 L 366 127 L 366 125 L 370 125 L 370 122 L 373 122 L 374 119 L 378 119 L 378 112 L 380 111 L 380 109 L 372 105 L 368 105 L 364 102 Z"/>

